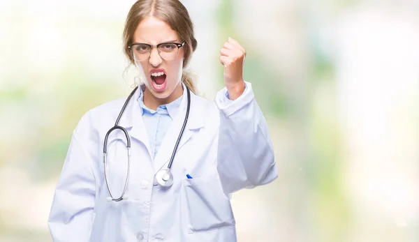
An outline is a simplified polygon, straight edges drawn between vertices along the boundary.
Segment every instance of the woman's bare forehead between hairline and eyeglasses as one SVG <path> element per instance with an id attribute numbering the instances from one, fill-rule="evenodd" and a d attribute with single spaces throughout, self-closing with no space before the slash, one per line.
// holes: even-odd
<path id="1" fill-rule="evenodd" d="M 156 17 L 146 17 L 135 29 L 134 43 L 156 45 L 166 41 L 178 40 L 176 31 L 166 22 Z"/>

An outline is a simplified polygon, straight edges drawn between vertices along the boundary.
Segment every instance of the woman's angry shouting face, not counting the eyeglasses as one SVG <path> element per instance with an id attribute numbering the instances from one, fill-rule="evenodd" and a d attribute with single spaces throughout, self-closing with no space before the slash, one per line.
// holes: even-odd
<path id="1" fill-rule="evenodd" d="M 159 45 L 160 43 L 181 43 L 176 31 L 156 17 L 146 17 L 138 24 L 133 36 L 135 43 Z M 138 47 L 134 45 L 133 48 Z M 164 48 L 164 45 L 163 45 Z M 164 53 L 161 53 L 164 56 Z M 182 68 L 184 47 L 179 48 L 175 59 L 165 60 L 159 55 L 156 47 L 152 47 L 150 56 L 145 61 L 135 61 L 140 69 L 142 80 L 152 95 L 159 99 L 158 103 L 170 103 L 182 95 Z M 175 91 L 175 92 L 174 92 Z"/>

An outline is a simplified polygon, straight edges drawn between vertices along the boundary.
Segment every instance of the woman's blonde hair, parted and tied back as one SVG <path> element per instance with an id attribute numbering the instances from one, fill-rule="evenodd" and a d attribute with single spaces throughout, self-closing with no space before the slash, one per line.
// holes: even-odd
<path id="1" fill-rule="evenodd" d="M 193 23 L 189 13 L 179 0 L 138 0 L 128 12 L 123 33 L 124 53 L 131 63 L 134 59 L 131 56 L 128 46 L 133 44 L 133 35 L 138 24 L 145 18 L 153 16 L 168 23 L 177 32 L 180 41 L 184 42 L 184 61 L 186 68 L 192 53 L 196 50 L 196 39 L 193 34 Z M 182 82 L 193 92 L 196 93 L 196 86 L 193 84 L 193 77 L 182 72 Z"/>

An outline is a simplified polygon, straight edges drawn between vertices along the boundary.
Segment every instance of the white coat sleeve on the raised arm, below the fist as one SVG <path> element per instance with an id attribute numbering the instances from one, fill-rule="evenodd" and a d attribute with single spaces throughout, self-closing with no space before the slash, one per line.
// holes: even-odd
<path id="1" fill-rule="evenodd" d="M 226 100 L 226 87 L 216 93 L 220 112 L 217 171 L 223 190 L 230 194 L 277 179 L 272 142 L 267 123 L 251 89 L 234 101 Z"/>

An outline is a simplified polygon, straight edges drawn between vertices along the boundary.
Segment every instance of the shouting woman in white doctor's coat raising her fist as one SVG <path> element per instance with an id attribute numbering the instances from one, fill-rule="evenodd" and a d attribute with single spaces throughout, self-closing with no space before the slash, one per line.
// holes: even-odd
<path id="1" fill-rule="evenodd" d="M 197 42 L 179 1 L 134 3 L 124 45 L 144 84 L 75 128 L 50 212 L 53 240 L 236 241 L 230 194 L 277 178 L 266 121 L 242 77 L 243 47 L 223 45 L 226 87 L 213 103 L 190 92 L 183 72 Z M 108 133 L 115 120 L 126 133 Z"/>

